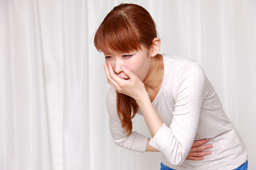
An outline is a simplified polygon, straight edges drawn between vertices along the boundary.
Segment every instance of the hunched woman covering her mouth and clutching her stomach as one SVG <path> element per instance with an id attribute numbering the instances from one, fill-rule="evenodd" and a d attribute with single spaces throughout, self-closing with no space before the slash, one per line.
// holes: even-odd
<path id="1" fill-rule="evenodd" d="M 94 44 L 105 55 L 112 86 L 107 109 L 117 145 L 162 152 L 161 169 L 247 169 L 247 149 L 203 69 L 187 57 L 158 54 L 161 40 L 146 9 L 114 7 Z M 152 139 L 132 132 L 136 113 Z M 203 151 L 210 148 L 212 153 Z"/>

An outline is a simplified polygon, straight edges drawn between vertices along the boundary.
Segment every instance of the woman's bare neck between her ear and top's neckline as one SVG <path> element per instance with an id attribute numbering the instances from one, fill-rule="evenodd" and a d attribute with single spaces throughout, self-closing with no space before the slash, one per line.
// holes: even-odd
<path id="1" fill-rule="evenodd" d="M 164 61 L 162 56 L 158 54 L 155 57 L 152 57 L 151 63 L 151 70 L 149 71 L 143 83 L 145 84 L 145 88 L 149 95 L 152 93 L 156 95 L 161 87 L 164 77 Z"/>

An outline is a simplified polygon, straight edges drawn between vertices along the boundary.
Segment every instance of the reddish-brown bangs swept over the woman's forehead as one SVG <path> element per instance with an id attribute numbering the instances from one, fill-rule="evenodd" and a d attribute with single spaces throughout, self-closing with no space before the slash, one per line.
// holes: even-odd
<path id="1" fill-rule="evenodd" d="M 135 30 L 123 14 L 102 23 L 95 34 L 94 45 L 104 53 L 109 53 L 108 49 L 126 53 L 141 49 Z"/>

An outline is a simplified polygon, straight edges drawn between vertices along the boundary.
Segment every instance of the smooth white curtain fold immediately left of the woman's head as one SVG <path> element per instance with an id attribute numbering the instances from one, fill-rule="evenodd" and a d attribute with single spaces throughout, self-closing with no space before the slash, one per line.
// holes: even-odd
<path id="1" fill-rule="evenodd" d="M 84 1 L 63 1 L 63 168 L 89 169 L 87 14 Z"/>

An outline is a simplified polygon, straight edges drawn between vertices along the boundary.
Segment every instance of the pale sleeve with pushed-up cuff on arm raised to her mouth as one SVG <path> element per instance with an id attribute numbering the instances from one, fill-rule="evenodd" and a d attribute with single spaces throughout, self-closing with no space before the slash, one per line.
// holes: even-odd
<path id="1" fill-rule="evenodd" d="M 180 69 L 170 95 L 174 111 L 170 127 L 164 123 L 149 145 L 162 152 L 169 163 L 182 164 L 197 132 L 200 110 L 207 94 L 206 76 L 198 63 Z"/>

